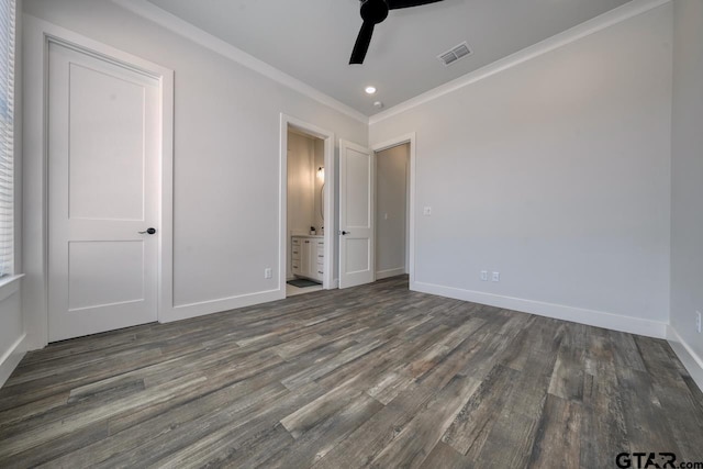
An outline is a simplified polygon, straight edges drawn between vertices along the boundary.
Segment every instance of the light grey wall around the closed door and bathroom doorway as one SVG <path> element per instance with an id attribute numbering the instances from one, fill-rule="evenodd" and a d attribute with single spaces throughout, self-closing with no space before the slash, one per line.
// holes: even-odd
<path id="1" fill-rule="evenodd" d="M 368 141 L 368 126 L 112 2 L 27 0 L 24 11 L 175 70 L 176 309 L 168 319 L 283 298 L 277 271 L 280 113 L 359 143 Z M 41 167 L 32 168 L 26 178 L 36 186 Z M 35 281 L 43 275 L 42 214 L 30 216 L 25 239 L 38 250 L 27 277 Z M 264 278 L 267 267 L 272 279 Z M 32 320 L 34 346 L 43 345 L 35 334 L 41 320 Z"/>

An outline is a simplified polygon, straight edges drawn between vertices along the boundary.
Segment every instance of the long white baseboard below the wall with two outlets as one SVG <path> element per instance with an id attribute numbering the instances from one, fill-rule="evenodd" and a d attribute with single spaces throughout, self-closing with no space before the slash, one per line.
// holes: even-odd
<path id="1" fill-rule="evenodd" d="M 520 311 L 523 313 L 536 314 L 538 316 L 570 321 L 589 326 L 604 327 L 613 331 L 645 335 L 648 337 L 666 338 L 667 336 L 667 324 L 658 321 L 623 316 L 620 314 L 604 313 L 602 311 L 567 306 L 563 304 L 502 297 L 481 291 L 464 290 L 417 281 L 411 282 L 410 289 L 423 293 L 454 298 L 455 300 L 471 301 L 473 303 L 488 304 L 489 306 L 501 308 L 504 310 Z"/>

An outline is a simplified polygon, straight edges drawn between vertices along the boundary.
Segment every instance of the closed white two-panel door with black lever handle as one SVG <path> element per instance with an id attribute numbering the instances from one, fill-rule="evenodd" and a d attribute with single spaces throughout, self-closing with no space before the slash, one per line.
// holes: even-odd
<path id="1" fill-rule="evenodd" d="M 49 44 L 49 342 L 157 319 L 159 90 Z"/>

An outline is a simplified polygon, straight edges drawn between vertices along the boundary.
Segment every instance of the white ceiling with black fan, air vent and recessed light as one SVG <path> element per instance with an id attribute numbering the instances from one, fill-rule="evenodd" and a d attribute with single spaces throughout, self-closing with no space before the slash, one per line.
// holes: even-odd
<path id="1" fill-rule="evenodd" d="M 372 115 L 628 0 L 444 0 L 393 10 L 364 65 L 348 65 L 359 0 L 149 0 L 332 98 Z M 467 41 L 449 67 L 436 56 Z M 378 92 L 364 92 L 373 85 Z"/>

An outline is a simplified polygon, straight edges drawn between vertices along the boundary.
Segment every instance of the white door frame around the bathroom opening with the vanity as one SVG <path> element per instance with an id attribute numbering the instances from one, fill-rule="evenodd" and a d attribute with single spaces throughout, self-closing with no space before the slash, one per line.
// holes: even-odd
<path id="1" fill-rule="evenodd" d="M 280 114 L 280 134 L 279 134 L 279 178 L 280 178 L 280 205 L 279 205 L 279 248 L 278 248 L 278 284 L 281 291 L 282 298 L 286 298 L 286 267 L 288 263 L 289 247 L 287 237 L 288 231 L 288 127 L 291 126 L 299 132 L 320 138 L 324 143 L 324 163 L 325 163 L 325 189 L 324 189 L 324 220 L 325 225 L 330 225 L 325 228 L 324 242 L 325 242 L 325 272 L 322 276 L 322 288 L 324 290 L 332 290 L 337 288 L 334 281 L 334 272 L 332 258 L 335 252 L 335 237 L 334 237 L 334 204 L 335 204 L 335 166 L 334 166 L 334 132 L 320 127 L 315 124 L 304 122 L 300 119 L 287 115 L 281 112 Z"/>

